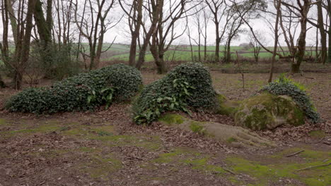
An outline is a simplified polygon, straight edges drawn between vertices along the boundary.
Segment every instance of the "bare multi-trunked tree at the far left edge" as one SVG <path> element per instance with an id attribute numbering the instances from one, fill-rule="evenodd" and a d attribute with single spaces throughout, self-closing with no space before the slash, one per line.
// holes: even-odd
<path id="1" fill-rule="evenodd" d="M 1 44 L 1 54 L 4 63 L 9 69 L 13 70 L 13 86 L 16 89 L 21 89 L 23 74 L 28 63 L 30 54 L 30 40 L 33 30 L 33 12 L 35 11 L 36 0 L 29 0 L 27 4 L 24 1 L 16 1 L 18 6 L 17 14 L 13 13 L 11 1 L 3 0 L 3 24 L 4 35 L 3 44 Z M 9 16 L 11 14 L 11 16 Z M 13 37 L 16 38 L 15 51 L 13 57 L 9 59 L 8 55 L 8 23 L 9 20 L 13 23 Z M 14 30 L 16 28 L 16 30 Z"/>

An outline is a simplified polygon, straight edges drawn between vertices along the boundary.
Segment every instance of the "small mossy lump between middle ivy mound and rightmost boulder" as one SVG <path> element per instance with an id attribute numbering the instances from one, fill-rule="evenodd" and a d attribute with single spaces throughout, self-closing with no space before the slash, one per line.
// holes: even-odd
<path id="1" fill-rule="evenodd" d="M 240 102 L 238 101 L 231 101 L 227 99 L 222 94 L 217 95 L 217 101 L 218 101 L 218 109 L 216 113 L 219 113 L 221 115 L 226 116 L 235 116 L 236 112 L 238 111 L 238 107 L 240 105 Z"/>

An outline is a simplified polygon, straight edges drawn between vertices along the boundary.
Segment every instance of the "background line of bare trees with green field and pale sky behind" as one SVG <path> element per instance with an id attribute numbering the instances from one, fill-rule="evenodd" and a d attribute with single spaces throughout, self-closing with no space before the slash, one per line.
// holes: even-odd
<path id="1" fill-rule="evenodd" d="M 238 58 L 233 41 L 240 35 L 254 61 L 261 52 L 272 54 L 270 80 L 277 59 L 286 59 L 291 73 L 300 73 L 307 56 L 331 61 L 331 0 L 1 0 L 0 6 L 0 66 L 11 78 L 5 84 L 0 73 L 1 87 L 93 70 L 110 49 L 139 70 L 150 55 L 158 73 L 177 51 L 189 52 L 190 61 L 230 63 Z M 265 24 L 256 26 L 259 21 Z M 119 34 L 131 40 L 127 52 L 113 45 Z M 315 38 L 309 48 L 307 35 Z"/>

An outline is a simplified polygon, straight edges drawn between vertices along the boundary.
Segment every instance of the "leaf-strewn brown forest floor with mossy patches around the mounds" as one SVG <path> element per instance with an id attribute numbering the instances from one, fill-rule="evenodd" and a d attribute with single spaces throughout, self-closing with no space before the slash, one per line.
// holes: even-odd
<path id="1" fill-rule="evenodd" d="M 211 75 L 231 100 L 250 97 L 268 77 L 245 74 L 243 89 L 240 74 Z M 143 76 L 144 84 L 162 77 Z M 130 104 L 50 116 L 0 111 L 0 185 L 331 185 L 331 74 L 293 79 L 307 87 L 324 121 L 259 132 L 277 143 L 265 149 L 232 148 L 157 122 L 137 126 Z M 0 107 L 16 93 L 1 89 Z M 233 124 L 226 116 L 192 117 Z"/>

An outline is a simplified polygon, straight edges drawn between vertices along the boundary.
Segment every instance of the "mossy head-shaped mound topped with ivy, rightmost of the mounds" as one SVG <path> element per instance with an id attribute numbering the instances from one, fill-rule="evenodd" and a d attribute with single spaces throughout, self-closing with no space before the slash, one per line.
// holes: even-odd
<path id="1" fill-rule="evenodd" d="M 243 100 L 235 114 L 237 125 L 252 130 L 273 129 L 285 123 L 302 125 L 305 118 L 314 123 L 320 120 L 303 86 L 284 75 L 263 87 L 260 94 Z"/>

